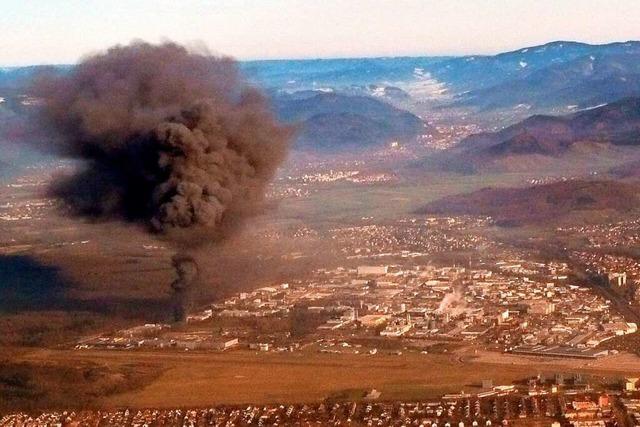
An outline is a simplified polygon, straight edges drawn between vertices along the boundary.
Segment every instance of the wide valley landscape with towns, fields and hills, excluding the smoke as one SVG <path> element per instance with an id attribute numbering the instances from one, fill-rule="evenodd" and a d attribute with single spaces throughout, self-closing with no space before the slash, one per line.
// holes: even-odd
<path id="1" fill-rule="evenodd" d="M 292 147 L 246 225 L 186 250 L 70 214 L 50 183 L 82 164 L 24 126 L 33 70 L 1 71 L 0 414 L 631 408 L 639 46 L 243 62 Z M 176 322 L 180 250 L 199 270 Z"/>

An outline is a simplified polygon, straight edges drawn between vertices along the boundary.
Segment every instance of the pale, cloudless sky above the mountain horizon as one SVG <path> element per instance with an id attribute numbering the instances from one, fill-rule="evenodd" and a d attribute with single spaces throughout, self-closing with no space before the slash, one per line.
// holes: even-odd
<path id="1" fill-rule="evenodd" d="M 132 39 L 240 59 L 495 53 L 640 39 L 640 0 L 0 0 L 0 65 Z"/>

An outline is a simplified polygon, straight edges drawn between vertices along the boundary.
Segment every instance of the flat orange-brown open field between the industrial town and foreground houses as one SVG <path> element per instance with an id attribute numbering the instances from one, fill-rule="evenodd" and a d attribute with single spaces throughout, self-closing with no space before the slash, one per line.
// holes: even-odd
<path id="1" fill-rule="evenodd" d="M 405 353 L 403 356 L 317 354 L 175 353 L 36 350 L 22 354 L 28 363 L 81 365 L 105 369 L 145 366 L 161 371 L 147 385 L 95 402 L 100 407 L 179 407 L 231 403 L 312 402 L 358 394 L 376 388 L 383 399 L 419 399 L 443 393 L 478 391 L 482 379 L 510 384 L 541 372 L 590 372 L 609 378 L 640 370 L 635 364 L 583 362 L 518 357 L 500 354 L 467 357 Z M 490 363 L 487 363 L 490 361 Z M 517 362 L 517 363 L 516 363 Z"/>

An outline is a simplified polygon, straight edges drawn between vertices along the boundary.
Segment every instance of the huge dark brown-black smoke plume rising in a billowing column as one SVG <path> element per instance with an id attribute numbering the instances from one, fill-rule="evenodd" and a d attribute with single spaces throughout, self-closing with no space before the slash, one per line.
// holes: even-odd
<path id="1" fill-rule="evenodd" d="M 291 137 L 235 61 L 173 43 L 114 47 L 35 89 L 52 148 L 85 164 L 52 192 L 75 214 L 143 224 L 179 251 L 260 208 Z M 179 299 L 195 280 L 184 265 L 174 263 Z"/>

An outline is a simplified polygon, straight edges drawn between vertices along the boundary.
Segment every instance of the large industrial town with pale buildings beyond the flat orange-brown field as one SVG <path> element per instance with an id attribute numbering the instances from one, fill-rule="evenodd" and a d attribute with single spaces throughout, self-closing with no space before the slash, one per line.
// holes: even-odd
<path id="1" fill-rule="evenodd" d="M 387 248 L 398 239 L 429 236 L 413 234 L 410 228 L 389 240 L 384 227 L 380 232 L 364 228 L 375 237 L 353 229 L 338 235 L 349 237 L 356 231 Z M 191 313 L 185 324 L 136 326 L 83 339 L 76 348 L 245 347 L 374 355 L 382 348 L 427 353 L 436 343 L 473 343 L 498 352 L 589 359 L 615 354 L 603 345 L 637 332 L 636 323 L 627 321 L 610 301 L 573 283 L 563 262 L 536 262 L 504 251 L 510 256 L 438 266 L 422 263 L 425 254 L 410 246 L 365 254 L 357 239 L 347 240 L 354 245 L 344 248 L 347 258 L 386 256 L 404 262 L 317 269 L 304 280 L 240 292 L 211 304 Z M 457 248 L 470 244 L 450 238 L 431 245 L 435 249 L 443 242 Z M 420 245 L 425 247 L 422 241 Z"/>

